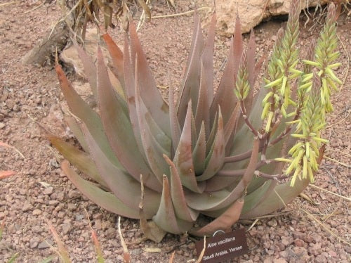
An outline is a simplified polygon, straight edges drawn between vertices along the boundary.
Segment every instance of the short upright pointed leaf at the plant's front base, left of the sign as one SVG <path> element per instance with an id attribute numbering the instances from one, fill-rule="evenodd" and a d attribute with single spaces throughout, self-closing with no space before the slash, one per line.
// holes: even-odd
<path id="1" fill-rule="evenodd" d="M 176 212 L 174 211 L 171 190 L 167 177 L 164 177 L 159 210 L 152 219 L 159 227 L 161 227 L 161 229 L 164 229 L 169 233 L 180 234 L 192 228 L 192 222 L 176 218 Z"/>

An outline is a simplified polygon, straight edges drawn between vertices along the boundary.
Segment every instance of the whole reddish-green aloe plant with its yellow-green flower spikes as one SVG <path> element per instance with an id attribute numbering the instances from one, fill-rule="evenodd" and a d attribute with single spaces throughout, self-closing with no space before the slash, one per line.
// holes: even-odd
<path id="1" fill-rule="evenodd" d="M 326 143 L 320 131 L 331 110 L 329 96 L 340 82 L 333 73 L 338 66 L 335 6 L 329 6 L 317 44 L 300 60 L 298 3 L 292 1 L 286 29 L 278 32 L 268 63 L 265 86 L 256 95 L 253 87 L 261 63 L 256 63 L 253 32 L 244 49 L 239 19 L 215 93 L 216 14 L 206 40 L 194 15 L 183 84 L 177 100 L 170 84 L 168 103 L 159 94 L 133 23 L 124 52 L 109 34 L 103 35 L 112 70 L 100 48 L 93 63 L 77 46 L 98 110 L 74 91 L 56 65 L 72 113 L 66 120 L 83 150 L 48 137 L 89 179 L 64 161 L 67 177 L 106 210 L 140 219 L 149 237 L 155 229 L 161 236 L 162 230 L 208 235 L 230 229 L 239 218 L 285 207 L 313 181 Z M 199 214 L 215 219 L 196 228 Z"/>

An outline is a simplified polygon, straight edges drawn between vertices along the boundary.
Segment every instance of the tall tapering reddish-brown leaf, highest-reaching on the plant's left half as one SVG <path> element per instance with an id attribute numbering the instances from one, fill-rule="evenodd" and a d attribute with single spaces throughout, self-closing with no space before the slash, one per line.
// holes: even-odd
<path id="1" fill-rule="evenodd" d="M 168 116 L 169 108 L 159 93 L 154 77 L 152 77 L 151 69 L 149 65 L 147 65 L 147 59 L 138 39 L 138 34 L 135 30 L 134 23 L 130 23 L 129 25 L 129 35 L 131 37 L 131 51 L 135 52 L 134 56 L 138 55 L 135 58 L 135 60 L 138 60 L 138 79 L 143 79 L 143 82 L 139 83 L 140 94 L 142 94 L 143 101 L 147 110 L 152 116 L 152 119 L 157 122 L 157 125 L 162 129 L 162 131 L 164 131 L 165 134 L 167 134 L 168 137 L 171 137 Z"/>

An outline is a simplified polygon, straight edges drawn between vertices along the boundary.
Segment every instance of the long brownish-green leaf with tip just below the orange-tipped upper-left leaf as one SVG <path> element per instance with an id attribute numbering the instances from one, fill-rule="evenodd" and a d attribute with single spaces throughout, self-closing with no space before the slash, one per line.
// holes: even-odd
<path id="1" fill-rule="evenodd" d="M 131 136 L 131 122 L 124 114 L 122 105 L 114 94 L 100 49 L 98 50 L 97 68 L 98 106 L 112 150 L 134 179 L 140 180 L 140 174 L 143 174 L 145 186 L 160 191 L 160 182 L 145 163 L 134 136 Z"/>

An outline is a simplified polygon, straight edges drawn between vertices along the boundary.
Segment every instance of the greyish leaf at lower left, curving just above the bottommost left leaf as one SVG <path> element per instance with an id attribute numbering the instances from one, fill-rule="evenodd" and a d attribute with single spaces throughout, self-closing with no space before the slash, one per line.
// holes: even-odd
<path id="1" fill-rule="evenodd" d="M 98 144 L 94 141 L 91 134 L 89 134 L 88 129 L 86 129 L 84 126 L 82 129 L 90 149 L 91 157 L 93 158 L 102 179 L 122 203 L 128 205 L 128 207 L 138 210 L 141 194 L 140 182 L 133 179 L 133 177 L 131 177 L 129 174 L 122 172 L 120 169 L 118 169 L 118 167 L 114 166 L 105 157 L 104 153 L 102 153 L 102 150 L 100 150 Z M 145 188 L 144 200 L 145 215 L 150 219 L 157 212 L 159 207 L 159 193 L 151 190 L 150 188 Z"/>

